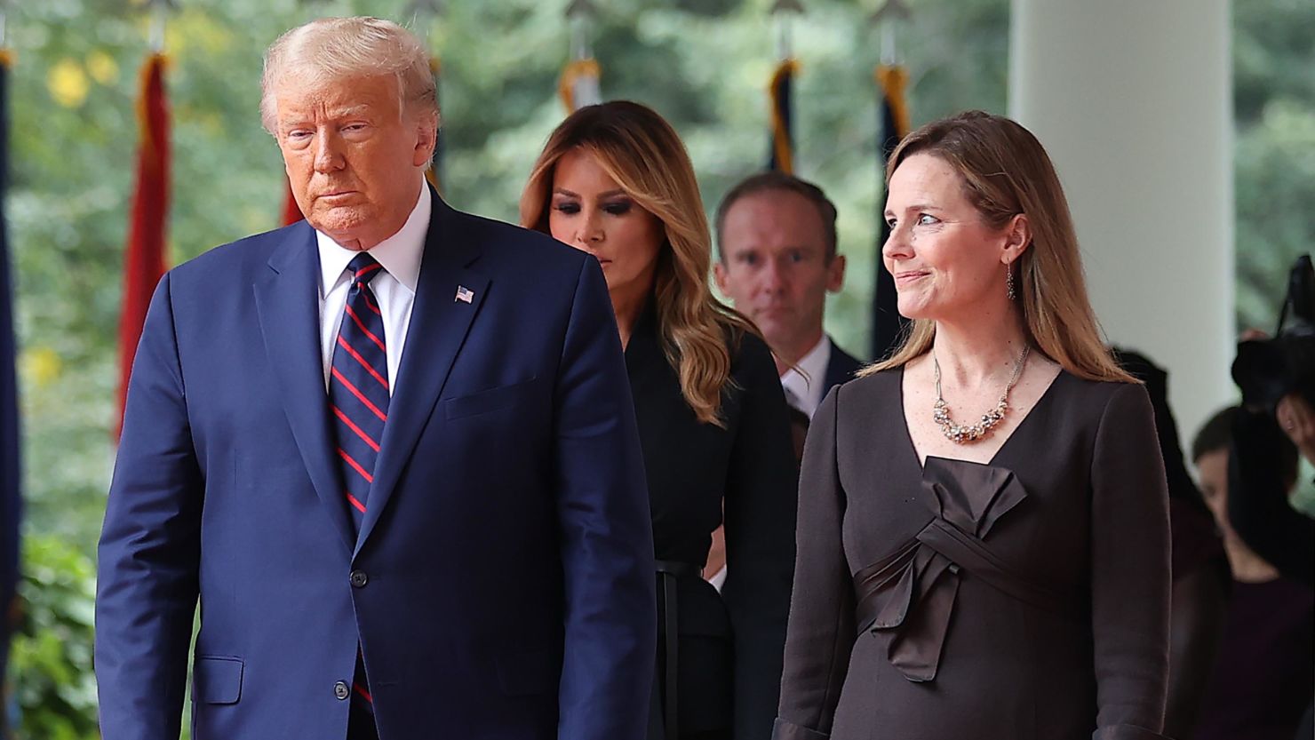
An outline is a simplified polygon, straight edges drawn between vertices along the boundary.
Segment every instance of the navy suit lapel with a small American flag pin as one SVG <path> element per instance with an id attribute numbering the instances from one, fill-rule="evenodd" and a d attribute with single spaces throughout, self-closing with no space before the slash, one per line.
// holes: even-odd
<path id="1" fill-rule="evenodd" d="M 416 304 L 393 397 L 388 402 L 388 423 L 380 440 L 375 482 L 370 488 L 370 510 L 360 524 L 356 552 L 397 488 L 447 382 L 452 361 L 488 293 L 488 276 L 475 267 L 480 250 L 458 222 L 463 216 L 447 206 L 433 189 L 430 197 L 434 208 L 425 237 Z"/>

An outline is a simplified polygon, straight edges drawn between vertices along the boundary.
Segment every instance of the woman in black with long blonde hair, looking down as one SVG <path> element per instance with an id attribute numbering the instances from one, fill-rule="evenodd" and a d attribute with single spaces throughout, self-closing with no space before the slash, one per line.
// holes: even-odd
<path id="1" fill-rule="evenodd" d="M 780 687 L 797 469 L 772 355 L 709 287 L 689 155 L 643 105 L 583 108 L 534 164 L 521 223 L 598 259 L 625 346 L 661 613 L 650 737 L 761 740 Z M 723 518 L 718 594 L 700 572 Z"/>

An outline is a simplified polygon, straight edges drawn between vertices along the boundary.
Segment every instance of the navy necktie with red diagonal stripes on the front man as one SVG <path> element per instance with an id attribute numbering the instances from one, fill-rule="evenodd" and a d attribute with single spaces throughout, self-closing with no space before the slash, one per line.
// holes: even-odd
<path id="1" fill-rule="evenodd" d="M 370 486 L 375 481 L 379 442 L 388 421 L 388 351 L 384 343 L 384 317 L 370 289 L 383 267 L 362 252 L 347 264 L 351 289 L 343 309 L 342 327 L 333 351 L 329 379 L 329 404 L 338 438 L 338 463 L 342 471 L 343 498 L 351 511 L 354 530 L 370 506 Z M 373 711 L 373 699 L 366 681 L 366 666 L 356 651 L 354 703 Z"/>

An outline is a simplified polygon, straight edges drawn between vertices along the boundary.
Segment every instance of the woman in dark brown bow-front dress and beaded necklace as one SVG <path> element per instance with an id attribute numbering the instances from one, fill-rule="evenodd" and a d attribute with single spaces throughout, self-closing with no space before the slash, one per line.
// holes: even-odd
<path id="1" fill-rule="evenodd" d="M 972 112 L 906 137 L 886 177 L 915 322 L 813 418 L 775 736 L 1159 739 L 1164 465 L 1049 158 Z"/>

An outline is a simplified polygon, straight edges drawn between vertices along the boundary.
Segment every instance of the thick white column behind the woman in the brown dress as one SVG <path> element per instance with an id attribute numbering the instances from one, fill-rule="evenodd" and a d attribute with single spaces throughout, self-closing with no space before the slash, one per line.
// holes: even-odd
<path id="1" fill-rule="evenodd" d="M 1010 116 L 1049 151 L 1111 342 L 1169 371 L 1186 447 L 1236 397 L 1227 0 L 1013 0 Z"/>

